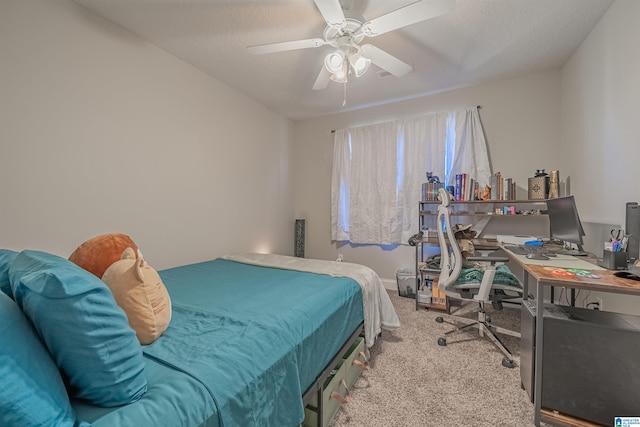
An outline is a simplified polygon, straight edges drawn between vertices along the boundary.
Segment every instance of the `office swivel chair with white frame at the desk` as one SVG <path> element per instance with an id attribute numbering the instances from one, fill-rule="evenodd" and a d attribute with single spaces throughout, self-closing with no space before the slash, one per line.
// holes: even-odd
<path id="1" fill-rule="evenodd" d="M 438 345 L 446 346 L 446 336 L 452 333 L 477 326 L 480 336 L 489 337 L 504 354 L 502 365 L 513 368 L 515 366 L 513 356 L 496 333 L 518 338 L 520 333 L 492 325 L 491 318 L 485 311 L 485 303 L 491 303 L 495 309 L 501 309 L 502 301 L 522 298 L 522 285 L 506 265 L 496 265 L 496 263 L 507 262 L 509 260 L 507 257 L 463 257 L 449 218 L 451 196 L 446 190 L 440 189 L 439 197 L 442 203 L 438 205 L 437 215 L 438 242 L 441 251 L 438 289 L 447 298 L 477 302 L 478 319 L 456 316 L 454 313 L 448 312 L 446 316 L 453 320 L 454 324 L 460 323 L 462 325 L 446 332 L 445 337 L 438 339 Z M 472 263 L 473 268 L 465 268 L 465 261 L 466 264 Z M 436 321 L 442 323 L 444 317 L 440 316 L 436 318 Z"/>

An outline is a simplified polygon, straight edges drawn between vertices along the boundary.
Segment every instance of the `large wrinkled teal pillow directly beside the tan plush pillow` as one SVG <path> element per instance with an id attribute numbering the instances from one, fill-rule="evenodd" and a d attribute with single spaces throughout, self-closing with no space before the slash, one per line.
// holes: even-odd
<path id="1" fill-rule="evenodd" d="M 73 396 L 98 406 L 135 402 L 147 390 L 142 348 L 107 285 L 56 255 L 20 252 L 11 289 Z"/>

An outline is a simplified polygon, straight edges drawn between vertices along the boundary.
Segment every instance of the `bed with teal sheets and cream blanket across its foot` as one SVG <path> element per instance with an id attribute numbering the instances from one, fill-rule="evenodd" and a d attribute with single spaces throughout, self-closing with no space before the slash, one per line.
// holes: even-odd
<path id="1" fill-rule="evenodd" d="M 173 315 L 142 347 L 146 392 L 111 408 L 72 399 L 78 420 L 297 426 L 357 337 L 370 347 L 382 329 L 399 326 L 378 276 L 356 264 L 238 254 L 159 274 Z"/>

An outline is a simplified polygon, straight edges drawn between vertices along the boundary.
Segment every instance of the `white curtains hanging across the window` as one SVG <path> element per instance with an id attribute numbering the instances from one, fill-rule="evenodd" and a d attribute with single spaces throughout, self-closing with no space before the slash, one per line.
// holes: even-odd
<path id="1" fill-rule="evenodd" d="M 331 238 L 401 244 L 417 232 L 426 172 L 445 182 L 468 173 L 489 183 L 491 170 L 477 108 L 433 113 L 335 133 Z"/>

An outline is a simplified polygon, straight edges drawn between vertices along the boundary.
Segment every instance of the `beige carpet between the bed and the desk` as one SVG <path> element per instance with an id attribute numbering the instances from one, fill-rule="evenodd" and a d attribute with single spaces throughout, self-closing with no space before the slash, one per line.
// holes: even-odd
<path id="1" fill-rule="evenodd" d="M 384 331 L 372 347 L 371 370 L 354 386 L 334 427 L 534 425 L 533 404 L 520 382 L 518 339 L 503 340 L 514 354 L 513 369 L 502 366 L 502 353 L 477 329 L 450 336 L 441 347 L 438 337 L 451 325 L 435 321 L 440 313 L 416 311 L 414 300 L 389 295 L 402 326 Z M 519 330 L 519 309 L 488 311 L 494 324 Z"/>

